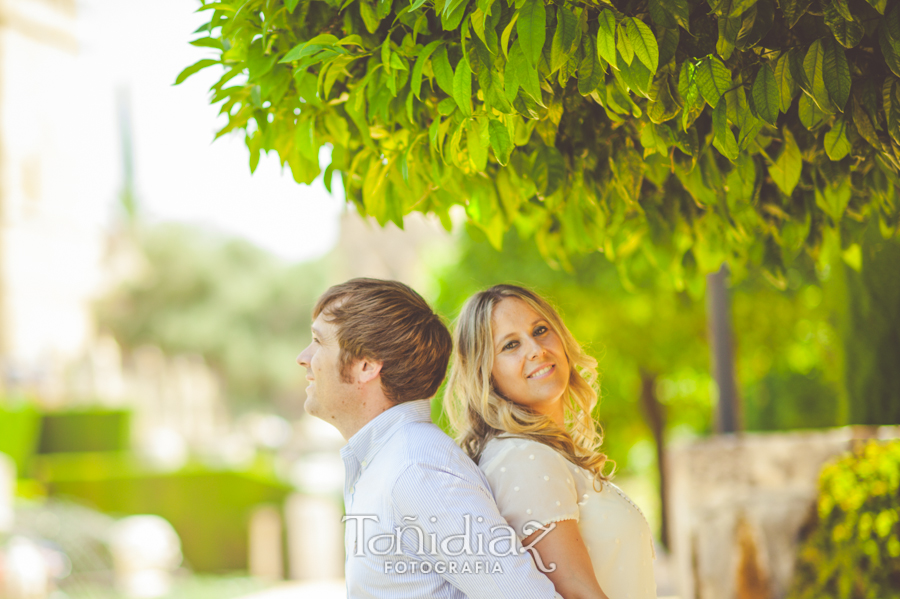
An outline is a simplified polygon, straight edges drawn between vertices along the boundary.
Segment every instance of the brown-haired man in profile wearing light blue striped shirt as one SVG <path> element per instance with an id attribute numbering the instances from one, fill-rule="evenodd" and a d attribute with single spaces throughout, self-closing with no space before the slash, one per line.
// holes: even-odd
<path id="1" fill-rule="evenodd" d="M 415 291 L 353 279 L 313 310 L 306 411 L 347 439 L 350 599 L 559 599 L 497 511 L 478 467 L 431 422 L 447 328 Z"/>

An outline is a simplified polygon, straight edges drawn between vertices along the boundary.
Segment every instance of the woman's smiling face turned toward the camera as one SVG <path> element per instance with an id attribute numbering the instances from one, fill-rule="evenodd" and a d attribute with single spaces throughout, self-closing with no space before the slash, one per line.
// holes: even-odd
<path id="1" fill-rule="evenodd" d="M 562 396 L 569 381 L 569 362 L 559 335 L 531 306 L 514 297 L 494 306 L 491 328 L 491 375 L 497 390 L 510 401 L 562 425 Z"/>

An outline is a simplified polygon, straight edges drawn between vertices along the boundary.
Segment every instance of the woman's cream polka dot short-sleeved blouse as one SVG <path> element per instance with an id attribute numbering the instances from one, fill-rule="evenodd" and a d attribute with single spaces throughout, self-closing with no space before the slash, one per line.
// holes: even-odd
<path id="1" fill-rule="evenodd" d="M 650 527 L 619 487 L 606 482 L 596 491 L 588 471 L 528 439 L 492 439 L 479 466 L 519 540 L 528 522 L 575 520 L 610 599 L 655 599 Z"/>

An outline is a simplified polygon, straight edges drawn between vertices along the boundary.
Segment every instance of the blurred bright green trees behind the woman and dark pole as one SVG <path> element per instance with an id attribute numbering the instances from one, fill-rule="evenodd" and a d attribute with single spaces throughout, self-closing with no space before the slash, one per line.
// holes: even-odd
<path id="1" fill-rule="evenodd" d="M 550 299 L 600 362 L 597 417 L 605 451 L 624 474 L 653 477 L 668 440 L 711 432 L 716 391 L 702 287 L 689 293 L 666 286 L 648 260 L 633 261 L 623 277 L 600 254 L 572 258 L 569 271 L 554 269 L 535 244 L 515 233 L 506 235 L 502 252 L 476 227 L 468 227 L 459 243 L 458 261 L 437 275 L 437 309 L 455 317 L 471 294 L 500 282 Z M 806 264 L 806 270 L 788 271 L 785 291 L 761 276 L 733 289 L 747 430 L 848 422 L 835 374 L 840 340 L 832 309 L 811 261 Z"/>

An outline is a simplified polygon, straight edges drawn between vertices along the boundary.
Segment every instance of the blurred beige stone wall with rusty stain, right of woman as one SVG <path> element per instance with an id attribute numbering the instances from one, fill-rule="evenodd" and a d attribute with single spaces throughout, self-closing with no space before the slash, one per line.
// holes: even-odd
<path id="1" fill-rule="evenodd" d="M 674 447 L 670 538 L 681 599 L 783 599 L 822 466 L 900 427 L 721 435 Z"/>

